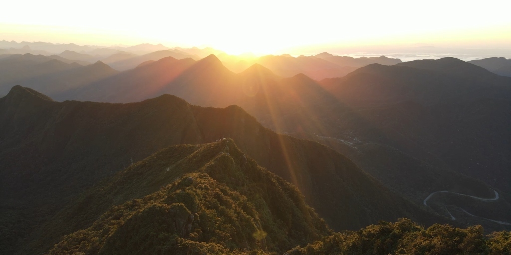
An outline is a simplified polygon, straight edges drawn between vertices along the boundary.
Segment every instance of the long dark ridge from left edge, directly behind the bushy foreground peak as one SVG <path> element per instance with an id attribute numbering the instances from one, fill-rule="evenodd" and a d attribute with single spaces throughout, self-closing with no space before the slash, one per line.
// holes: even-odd
<path id="1" fill-rule="evenodd" d="M 5 159 L 5 168 L 0 172 L 1 205 L 6 215 L 2 217 L 2 225 L 13 226 L 7 228 L 3 238 L 8 241 L 3 243 L 10 245 L 6 249 L 12 250 L 12 253 L 16 250 L 21 253 L 47 250 L 53 241 L 58 242 L 60 236 L 71 233 L 65 231 L 78 231 L 90 226 L 97 219 L 94 215 L 106 213 L 104 210 L 110 207 L 108 205 L 120 205 L 130 200 L 126 195 L 121 195 L 121 200 L 112 197 L 110 201 L 113 203 L 102 204 L 105 207 L 101 210 L 92 209 L 98 210 L 96 214 L 88 214 L 88 211 L 77 207 L 75 210 L 88 215 L 76 216 L 77 219 L 88 225 L 72 222 L 69 222 L 72 225 L 66 225 L 63 222 L 67 220 L 61 214 L 56 216 L 82 191 L 130 166 L 131 160 L 143 160 L 174 144 L 202 144 L 223 138 L 232 139 L 229 142 L 233 145 L 224 151 L 233 154 L 229 157 L 235 157 L 239 162 L 239 151 L 242 151 L 248 158 L 295 184 L 305 195 L 305 200 L 336 229 L 356 229 L 381 219 L 395 220 L 398 217 L 410 217 L 425 224 L 444 221 L 391 192 L 338 152 L 312 141 L 275 134 L 237 106 L 202 108 L 171 95 L 130 104 L 59 103 L 35 90 L 15 86 L 7 96 L 0 98 L 0 116 L 0 151 L 2 159 Z M 239 151 L 231 150 L 236 147 Z M 218 151 L 204 153 L 213 154 L 212 158 L 204 159 L 206 164 Z M 184 157 L 185 154 L 182 154 Z M 228 161 L 228 158 L 225 160 Z M 251 160 L 247 162 L 255 164 Z M 167 168 L 171 166 L 170 163 L 164 165 L 168 165 Z M 194 171 L 187 169 L 182 170 Z M 156 171 L 166 172 L 166 168 Z M 154 182 L 149 179 L 146 182 L 139 179 L 140 175 L 135 175 L 138 181 L 150 187 L 151 193 L 166 182 L 156 180 L 154 176 L 150 179 Z M 219 176 L 229 178 L 230 175 Z M 198 176 L 191 177 L 202 182 Z M 137 180 L 130 182 L 136 183 Z M 239 185 L 239 182 L 248 182 L 248 179 L 229 179 L 227 182 Z M 138 193 L 140 196 L 136 198 L 142 199 L 151 194 L 142 193 Z M 166 197 L 164 195 L 161 199 L 171 199 L 172 196 Z M 143 208 L 145 206 L 141 210 Z M 107 215 L 105 217 L 110 217 Z M 69 214 L 65 217 L 75 216 Z M 52 232 L 55 235 L 45 232 L 47 227 L 44 224 L 53 224 L 50 222 L 55 220 L 59 222 L 59 228 L 60 224 L 66 225 L 60 228 L 65 231 L 56 230 Z M 320 225 L 316 229 L 321 230 Z M 29 234 L 29 230 L 34 231 Z M 314 230 L 311 233 L 319 232 Z M 293 239 L 293 235 L 288 239 L 291 240 L 288 242 L 290 245 L 296 244 L 300 236 L 297 234 L 297 239 Z M 41 238 L 47 241 L 41 241 Z M 308 242 L 313 236 L 308 238 L 298 243 Z M 240 239 L 236 245 L 243 243 Z M 274 241 L 272 243 L 277 245 Z M 251 243 L 248 244 L 252 247 Z M 282 249 L 284 246 L 276 250 Z"/>

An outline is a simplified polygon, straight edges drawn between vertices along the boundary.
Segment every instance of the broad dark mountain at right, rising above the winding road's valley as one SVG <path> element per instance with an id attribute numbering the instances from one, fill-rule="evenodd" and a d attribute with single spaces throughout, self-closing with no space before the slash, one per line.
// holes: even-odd
<path id="1" fill-rule="evenodd" d="M 321 83 L 340 101 L 360 107 L 361 118 L 381 132 L 355 131 L 357 124 L 344 120 L 354 137 L 380 143 L 389 139 L 385 143 L 423 160 L 434 155 L 448 168 L 508 192 L 503 180 L 511 176 L 501 167 L 511 164 L 502 157 L 510 151 L 503 141 L 510 139 L 504 130 L 511 125 L 511 79 L 448 58 L 369 65 Z"/>

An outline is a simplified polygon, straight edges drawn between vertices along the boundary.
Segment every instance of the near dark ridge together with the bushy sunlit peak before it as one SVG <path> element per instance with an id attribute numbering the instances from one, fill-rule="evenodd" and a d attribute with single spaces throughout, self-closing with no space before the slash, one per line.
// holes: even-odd
<path id="1" fill-rule="evenodd" d="M 0 98 L 0 116 L 2 249 L 11 254 L 282 253 L 333 235 L 326 222 L 449 221 L 338 152 L 275 134 L 237 106 L 202 108 L 171 95 L 60 103 L 15 86 Z"/>

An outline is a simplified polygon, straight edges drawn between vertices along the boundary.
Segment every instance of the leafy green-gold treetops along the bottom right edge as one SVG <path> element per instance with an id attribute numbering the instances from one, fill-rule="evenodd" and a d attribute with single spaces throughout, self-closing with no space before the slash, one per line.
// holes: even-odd
<path id="1" fill-rule="evenodd" d="M 403 218 L 335 233 L 287 254 L 511 254 L 511 235 L 502 231 L 485 237 L 480 225 L 433 224 L 424 228 Z"/>

